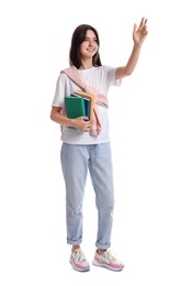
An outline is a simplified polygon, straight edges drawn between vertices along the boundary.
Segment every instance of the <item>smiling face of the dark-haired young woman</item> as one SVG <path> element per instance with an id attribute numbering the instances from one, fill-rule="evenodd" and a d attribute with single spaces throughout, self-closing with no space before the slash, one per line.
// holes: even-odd
<path id="1" fill-rule="evenodd" d="M 80 55 L 83 61 L 92 58 L 98 52 L 98 38 L 93 31 L 88 30 L 80 45 Z"/>

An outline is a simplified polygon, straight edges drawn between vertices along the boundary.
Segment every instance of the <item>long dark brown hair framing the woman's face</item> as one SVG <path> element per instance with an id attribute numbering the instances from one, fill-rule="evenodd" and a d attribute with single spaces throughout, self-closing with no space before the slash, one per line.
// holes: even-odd
<path id="1" fill-rule="evenodd" d="M 72 37 L 71 37 L 71 46 L 70 46 L 70 51 L 69 51 L 70 66 L 75 65 L 77 68 L 79 68 L 81 66 L 80 45 L 85 41 L 86 33 L 88 30 L 91 30 L 96 34 L 98 47 L 100 46 L 99 35 L 98 35 L 97 30 L 93 26 L 87 25 L 87 24 L 81 24 L 81 25 L 77 26 L 75 29 L 75 31 L 72 33 Z M 93 63 L 92 63 L 93 66 L 101 66 L 99 50 L 92 59 L 93 59 Z"/>

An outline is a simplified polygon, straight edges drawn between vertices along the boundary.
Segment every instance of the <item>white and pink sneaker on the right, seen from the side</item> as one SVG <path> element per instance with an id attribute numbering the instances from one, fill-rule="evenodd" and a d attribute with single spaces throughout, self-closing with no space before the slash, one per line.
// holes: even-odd
<path id="1" fill-rule="evenodd" d="M 96 251 L 92 264 L 96 266 L 105 267 L 110 271 L 122 271 L 124 267 L 123 263 L 117 258 L 116 254 L 108 250 L 102 254 L 98 254 Z"/>

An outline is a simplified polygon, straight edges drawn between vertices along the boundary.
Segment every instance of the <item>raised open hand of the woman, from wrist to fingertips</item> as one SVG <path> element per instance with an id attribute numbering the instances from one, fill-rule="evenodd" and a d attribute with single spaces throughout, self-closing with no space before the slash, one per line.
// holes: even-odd
<path id="1" fill-rule="evenodd" d="M 137 29 L 137 25 L 134 24 L 133 29 L 133 41 L 136 44 L 142 45 L 143 42 L 145 41 L 145 37 L 147 36 L 148 31 L 147 31 L 147 19 L 142 18 L 142 21 L 139 23 L 139 26 Z"/>

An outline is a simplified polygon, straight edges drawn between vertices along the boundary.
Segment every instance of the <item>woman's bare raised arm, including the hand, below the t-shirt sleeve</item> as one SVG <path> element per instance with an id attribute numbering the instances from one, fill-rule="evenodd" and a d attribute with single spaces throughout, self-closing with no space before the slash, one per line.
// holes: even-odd
<path id="1" fill-rule="evenodd" d="M 142 44 L 145 41 L 145 37 L 147 36 L 147 34 L 148 34 L 147 19 L 143 18 L 139 23 L 138 29 L 137 29 L 137 25 L 134 24 L 134 29 L 133 29 L 134 46 L 133 46 L 132 54 L 128 58 L 126 66 L 116 68 L 115 79 L 121 79 L 123 77 L 130 76 L 133 73 L 133 70 L 138 62 L 139 53 L 142 50 Z"/>

